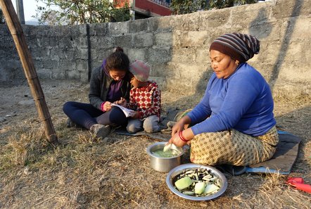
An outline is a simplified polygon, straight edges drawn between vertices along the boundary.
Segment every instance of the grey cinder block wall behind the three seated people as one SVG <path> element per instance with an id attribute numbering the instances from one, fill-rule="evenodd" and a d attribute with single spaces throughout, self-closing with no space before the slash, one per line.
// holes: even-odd
<path id="1" fill-rule="evenodd" d="M 260 53 L 248 63 L 274 94 L 311 94 L 311 1 L 281 0 L 122 23 L 31 26 L 23 30 L 40 78 L 87 82 L 115 46 L 148 61 L 163 91 L 203 93 L 212 70 L 208 49 L 226 32 L 253 34 Z M 89 28 L 88 28 L 89 27 Z M 0 25 L 0 82 L 25 80 L 6 25 Z"/>

